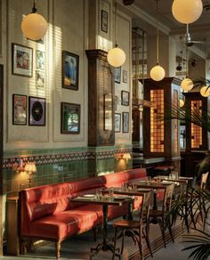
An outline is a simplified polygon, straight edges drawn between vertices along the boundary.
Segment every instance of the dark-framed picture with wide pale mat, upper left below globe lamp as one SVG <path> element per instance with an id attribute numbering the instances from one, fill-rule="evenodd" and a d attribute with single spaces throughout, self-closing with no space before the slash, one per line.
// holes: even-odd
<path id="1" fill-rule="evenodd" d="M 22 77 L 33 76 L 33 49 L 12 44 L 12 74 Z"/>

